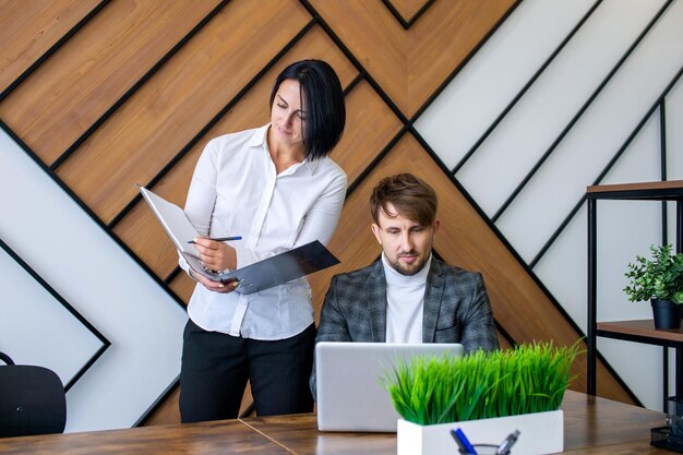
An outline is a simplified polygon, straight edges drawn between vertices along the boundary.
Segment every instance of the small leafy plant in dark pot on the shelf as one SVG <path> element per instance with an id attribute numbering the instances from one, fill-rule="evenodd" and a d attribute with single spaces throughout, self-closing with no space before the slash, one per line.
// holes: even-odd
<path id="1" fill-rule="evenodd" d="M 650 246 L 651 260 L 637 255 L 624 274 L 624 292 L 632 302 L 650 300 L 656 328 L 681 326 L 683 303 L 683 254 L 673 253 L 671 244 Z"/>

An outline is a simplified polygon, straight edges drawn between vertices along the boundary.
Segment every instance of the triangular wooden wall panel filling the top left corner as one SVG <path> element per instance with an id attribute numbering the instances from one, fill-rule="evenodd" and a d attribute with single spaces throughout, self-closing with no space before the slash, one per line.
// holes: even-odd
<path id="1" fill-rule="evenodd" d="M 0 0 L 0 93 L 98 3 L 99 0 Z"/>

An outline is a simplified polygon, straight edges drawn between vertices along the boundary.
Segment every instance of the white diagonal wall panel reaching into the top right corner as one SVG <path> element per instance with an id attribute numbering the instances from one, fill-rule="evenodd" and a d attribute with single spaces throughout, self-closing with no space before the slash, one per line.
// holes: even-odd
<path id="1" fill-rule="evenodd" d="M 498 220 L 525 260 L 539 251 L 683 65 L 682 23 L 683 2 L 673 2 Z M 535 213 L 543 216 L 529 225 L 528 216 Z"/>

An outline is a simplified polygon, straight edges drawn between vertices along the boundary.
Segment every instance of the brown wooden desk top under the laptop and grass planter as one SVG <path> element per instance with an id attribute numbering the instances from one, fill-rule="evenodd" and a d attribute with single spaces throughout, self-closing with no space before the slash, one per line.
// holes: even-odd
<path id="1" fill-rule="evenodd" d="M 564 410 L 566 454 L 671 455 L 650 447 L 650 428 L 664 415 L 568 391 Z M 250 418 L 0 440 L 0 454 L 296 454 L 394 455 L 394 433 L 319 432 L 314 415 Z M 454 454 L 457 451 L 454 446 Z M 513 451 L 514 453 L 514 451 Z"/>

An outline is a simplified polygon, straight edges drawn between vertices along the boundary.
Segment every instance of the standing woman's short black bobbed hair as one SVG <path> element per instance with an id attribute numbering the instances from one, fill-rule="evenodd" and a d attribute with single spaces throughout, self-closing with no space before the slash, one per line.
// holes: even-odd
<path id="1" fill-rule="evenodd" d="M 329 155 L 346 124 L 344 92 L 337 74 L 322 60 L 301 60 L 285 68 L 275 80 L 271 108 L 285 80 L 299 82 L 301 101 L 307 101 L 303 146 L 311 159 Z"/>

